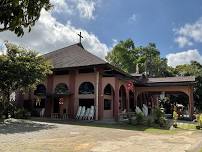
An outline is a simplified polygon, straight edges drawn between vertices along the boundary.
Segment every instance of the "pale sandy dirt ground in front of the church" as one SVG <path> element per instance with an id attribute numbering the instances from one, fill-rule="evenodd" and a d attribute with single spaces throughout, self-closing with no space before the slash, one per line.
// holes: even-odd
<path id="1" fill-rule="evenodd" d="M 184 152 L 202 132 L 144 131 L 12 120 L 0 124 L 0 152 Z"/>

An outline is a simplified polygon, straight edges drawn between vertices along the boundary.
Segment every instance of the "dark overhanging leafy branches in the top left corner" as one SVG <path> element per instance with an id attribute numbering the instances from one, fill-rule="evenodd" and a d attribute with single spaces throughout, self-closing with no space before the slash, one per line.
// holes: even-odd
<path id="1" fill-rule="evenodd" d="M 1 0 L 0 1 L 0 32 L 12 31 L 17 36 L 24 34 L 23 28 L 35 25 L 41 10 L 51 8 L 50 0 Z"/>

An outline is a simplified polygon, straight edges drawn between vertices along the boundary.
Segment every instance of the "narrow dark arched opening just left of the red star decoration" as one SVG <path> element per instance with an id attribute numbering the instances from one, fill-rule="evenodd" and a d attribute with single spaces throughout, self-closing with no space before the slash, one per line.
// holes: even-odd
<path id="1" fill-rule="evenodd" d="M 126 89 L 122 85 L 119 89 L 119 111 L 124 111 L 127 109 L 126 106 Z"/>

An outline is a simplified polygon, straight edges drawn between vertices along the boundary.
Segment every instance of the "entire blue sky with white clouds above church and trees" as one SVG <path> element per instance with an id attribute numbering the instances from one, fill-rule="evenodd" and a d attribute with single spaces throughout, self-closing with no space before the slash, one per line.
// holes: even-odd
<path id="1" fill-rule="evenodd" d="M 0 33 L 24 47 L 50 52 L 79 42 L 104 58 L 120 40 L 132 38 L 136 45 L 157 44 L 168 64 L 196 60 L 202 63 L 201 0 L 51 0 L 54 9 L 41 12 L 31 33 L 22 38 Z M 0 43 L 0 49 L 1 49 Z"/>

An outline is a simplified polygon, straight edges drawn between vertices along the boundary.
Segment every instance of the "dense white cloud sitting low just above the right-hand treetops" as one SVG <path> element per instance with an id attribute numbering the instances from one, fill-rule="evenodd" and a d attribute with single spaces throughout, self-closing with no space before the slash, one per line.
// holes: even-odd
<path id="1" fill-rule="evenodd" d="M 168 65 L 172 67 L 181 64 L 189 64 L 191 61 L 197 61 L 202 64 L 202 55 L 200 55 L 197 49 L 170 53 L 166 58 L 168 59 Z"/>

